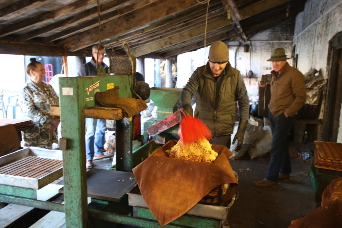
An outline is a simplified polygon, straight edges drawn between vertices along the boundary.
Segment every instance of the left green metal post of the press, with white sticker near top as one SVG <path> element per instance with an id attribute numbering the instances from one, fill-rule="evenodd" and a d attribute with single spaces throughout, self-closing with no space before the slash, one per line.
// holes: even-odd
<path id="1" fill-rule="evenodd" d="M 65 224 L 67 228 L 87 226 L 87 170 L 83 80 L 60 78 L 60 112 L 63 150 Z"/>

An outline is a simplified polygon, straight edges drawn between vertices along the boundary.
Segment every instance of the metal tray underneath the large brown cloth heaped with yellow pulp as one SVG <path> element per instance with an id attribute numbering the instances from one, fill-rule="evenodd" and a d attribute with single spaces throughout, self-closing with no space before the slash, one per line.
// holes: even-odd
<path id="1" fill-rule="evenodd" d="M 131 191 L 127 192 L 128 194 L 128 205 L 148 208 L 143 196 L 140 194 L 138 186 L 134 187 Z M 206 218 L 215 218 L 224 220 L 227 218 L 229 213 L 229 208 L 233 205 L 235 199 L 237 198 L 238 193 L 236 193 L 231 202 L 227 206 L 216 206 L 216 205 L 208 205 L 197 203 L 192 209 L 190 209 L 187 215 L 201 216 Z"/>

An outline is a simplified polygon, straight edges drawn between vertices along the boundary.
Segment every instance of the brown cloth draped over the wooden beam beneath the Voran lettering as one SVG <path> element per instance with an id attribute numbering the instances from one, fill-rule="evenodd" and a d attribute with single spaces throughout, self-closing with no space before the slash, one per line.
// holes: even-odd
<path id="1" fill-rule="evenodd" d="M 120 98 L 119 86 L 104 92 L 95 93 L 95 99 L 105 107 L 121 108 L 123 117 L 131 117 L 147 108 L 146 102 L 135 98 Z"/>

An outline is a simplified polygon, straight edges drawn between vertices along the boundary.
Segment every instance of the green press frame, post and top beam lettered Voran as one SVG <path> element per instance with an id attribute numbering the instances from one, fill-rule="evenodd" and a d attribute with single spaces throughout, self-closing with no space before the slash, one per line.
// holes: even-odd
<path id="1" fill-rule="evenodd" d="M 129 75 L 106 75 L 59 79 L 61 131 L 63 140 L 67 142 L 66 149 L 63 149 L 65 223 L 67 228 L 86 227 L 88 221 L 84 109 L 98 105 L 95 92 L 106 91 L 115 86 L 120 88 L 120 97 L 132 97 L 131 78 Z M 122 129 L 129 128 L 128 131 L 122 131 L 124 132 L 123 143 L 130 140 L 129 149 L 122 150 L 126 151 L 122 154 L 126 153 L 125 156 L 130 158 L 132 154 L 132 121 L 130 119 L 120 121 L 123 123 Z M 122 169 L 130 172 L 131 166 Z"/>

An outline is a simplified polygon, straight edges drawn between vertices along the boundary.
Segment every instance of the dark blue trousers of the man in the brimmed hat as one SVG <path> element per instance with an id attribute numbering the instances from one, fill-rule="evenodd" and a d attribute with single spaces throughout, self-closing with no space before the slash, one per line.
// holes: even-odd
<path id="1" fill-rule="evenodd" d="M 295 120 L 296 115 L 286 118 L 284 113 L 274 117 L 271 111 L 268 112 L 269 125 L 272 131 L 271 160 L 269 160 L 267 180 L 277 181 L 279 173 L 290 174 L 291 162 L 287 136 Z"/>

